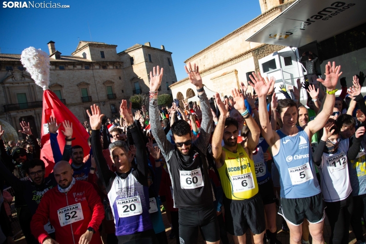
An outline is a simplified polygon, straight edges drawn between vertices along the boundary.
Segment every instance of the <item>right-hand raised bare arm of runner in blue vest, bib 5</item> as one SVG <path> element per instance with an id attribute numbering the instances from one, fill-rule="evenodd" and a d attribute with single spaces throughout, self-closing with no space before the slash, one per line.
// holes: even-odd
<path id="1" fill-rule="evenodd" d="M 314 120 L 309 121 L 309 123 L 305 126 L 304 130 L 308 133 L 309 138 L 311 138 L 314 133 L 322 129 L 328 119 L 329 116 L 333 113 L 333 107 L 335 102 L 335 87 L 338 83 L 339 76 L 342 74 L 340 72 L 340 66 L 335 66 L 335 62 L 331 65 L 331 62 L 328 62 L 326 65 L 326 79 L 322 80 L 318 78 L 318 82 L 327 88 L 326 99 L 323 102 L 323 109 L 321 112 L 315 117 Z"/>

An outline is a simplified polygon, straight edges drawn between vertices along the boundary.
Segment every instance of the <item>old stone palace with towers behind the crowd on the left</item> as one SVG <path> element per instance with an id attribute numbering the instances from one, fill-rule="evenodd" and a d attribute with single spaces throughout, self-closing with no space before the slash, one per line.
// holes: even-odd
<path id="1" fill-rule="evenodd" d="M 94 103 L 108 117 L 119 117 L 121 99 L 149 92 L 148 72 L 153 66 L 165 69 L 161 93 L 171 93 L 166 83 L 171 85 L 177 80 L 172 53 L 164 46 L 158 49 L 151 47 L 150 43 L 136 44 L 117 53 L 116 45 L 80 41 L 70 56 L 61 55 L 52 41 L 48 46 L 49 89 L 62 99 L 80 122 L 88 119 L 86 109 Z M 152 62 L 149 62 L 148 54 Z M 135 59 L 134 65 L 130 63 L 131 56 Z M 28 121 L 33 133 L 39 136 L 43 90 L 35 85 L 20 57 L 20 54 L 0 54 L 0 119 L 16 130 L 21 129 L 20 121 Z M 140 91 L 136 92 L 135 82 L 139 83 Z M 22 138 L 21 133 L 19 138 Z"/>

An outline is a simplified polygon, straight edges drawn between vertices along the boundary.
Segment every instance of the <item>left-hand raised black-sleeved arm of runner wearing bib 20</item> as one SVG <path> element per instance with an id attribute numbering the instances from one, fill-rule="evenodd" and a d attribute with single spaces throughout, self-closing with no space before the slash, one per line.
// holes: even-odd
<path id="1" fill-rule="evenodd" d="M 109 184 L 109 179 L 114 175 L 114 173 L 109 170 L 106 159 L 103 155 L 103 148 L 100 144 L 100 126 L 101 126 L 101 118 L 103 118 L 104 114 L 100 113 L 99 106 L 95 104 L 90 106 L 90 110 L 87 110 L 90 120 L 90 127 L 92 129 L 92 150 L 94 155 L 95 164 L 98 168 L 98 172 L 101 173 L 102 180 L 104 180 L 106 186 Z"/>

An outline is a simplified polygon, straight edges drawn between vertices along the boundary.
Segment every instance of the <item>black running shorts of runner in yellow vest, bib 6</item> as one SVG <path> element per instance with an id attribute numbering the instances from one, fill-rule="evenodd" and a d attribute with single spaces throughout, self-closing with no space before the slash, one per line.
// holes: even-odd
<path id="1" fill-rule="evenodd" d="M 231 200 L 224 196 L 223 207 L 226 230 L 231 235 L 244 235 L 248 228 L 254 234 L 266 230 L 265 207 L 260 194 L 245 200 Z"/>

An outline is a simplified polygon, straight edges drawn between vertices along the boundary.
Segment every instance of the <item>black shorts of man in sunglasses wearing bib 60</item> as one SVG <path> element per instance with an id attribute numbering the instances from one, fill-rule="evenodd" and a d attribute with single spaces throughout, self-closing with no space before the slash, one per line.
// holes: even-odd
<path id="1" fill-rule="evenodd" d="M 179 241 L 180 244 L 196 244 L 198 227 L 201 227 L 202 238 L 215 242 L 220 240 L 220 230 L 216 210 L 213 206 L 179 210 Z"/>

